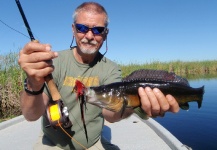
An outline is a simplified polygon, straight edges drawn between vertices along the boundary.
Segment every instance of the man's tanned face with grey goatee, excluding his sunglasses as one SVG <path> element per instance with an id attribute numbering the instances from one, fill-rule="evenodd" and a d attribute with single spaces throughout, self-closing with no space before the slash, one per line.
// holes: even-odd
<path id="1" fill-rule="evenodd" d="M 80 12 L 77 15 L 75 24 L 82 24 L 89 28 L 105 27 L 105 15 Z M 84 54 L 95 54 L 101 48 L 106 33 L 103 32 L 103 34 L 94 34 L 91 30 L 86 33 L 82 33 L 77 31 L 75 24 L 73 24 L 73 32 L 78 48 Z"/>

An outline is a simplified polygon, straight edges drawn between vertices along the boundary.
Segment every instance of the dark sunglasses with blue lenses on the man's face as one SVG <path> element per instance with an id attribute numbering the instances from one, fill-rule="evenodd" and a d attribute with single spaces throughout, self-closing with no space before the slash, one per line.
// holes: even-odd
<path id="1" fill-rule="evenodd" d="M 106 27 L 93 27 L 89 28 L 88 26 L 85 26 L 83 24 L 75 24 L 76 30 L 80 33 L 87 33 L 89 30 L 92 31 L 95 35 L 103 34 L 106 30 Z"/>

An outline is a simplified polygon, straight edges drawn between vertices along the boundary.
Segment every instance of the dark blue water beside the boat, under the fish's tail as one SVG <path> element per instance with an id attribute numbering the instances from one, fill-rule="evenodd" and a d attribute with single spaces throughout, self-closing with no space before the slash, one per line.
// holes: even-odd
<path id="1" fill-rule="evenodd" d="M 217 150 L 217 79 L 190 81 L 190 85 L 205 85 L 202 107 L 192 102 L 188 111 L 155 120 L 193 150 Z"/>

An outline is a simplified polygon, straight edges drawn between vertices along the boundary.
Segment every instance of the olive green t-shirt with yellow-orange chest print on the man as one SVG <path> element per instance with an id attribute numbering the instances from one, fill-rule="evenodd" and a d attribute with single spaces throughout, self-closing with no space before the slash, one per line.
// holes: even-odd
<path id="1" fill-rule="evenodd" d="M 104 119 L 101 108 L 86 104 L 84 119 L 88 133 L 87 142 L 81 119 L 80 104 L 76 100 L 76 93 L 73 91 L 75 81 L 80 80 L 85 86 L 99 86 L 119 82 L 121 81 L 120 68 L 100 53 L 97 54 L 97 57 L 91 64 L 81 64 L 74 58 L 73 50 L 58 52 L 58 57 L 53 60 L 53 64 L 55 70 L 52 75 L 60 92 L 61 99 L 68 108 L 69 119 L 73 124 L 70 129 L 65 130 L 79 143 L 88 148 L 99 139 Z M 43 116 L 43 132 L 54 144 L 63 149 L 82 149 L 59 127 L 56 129 L 53 127 L 45 128 L 48 124 L 49 121 Z"/>

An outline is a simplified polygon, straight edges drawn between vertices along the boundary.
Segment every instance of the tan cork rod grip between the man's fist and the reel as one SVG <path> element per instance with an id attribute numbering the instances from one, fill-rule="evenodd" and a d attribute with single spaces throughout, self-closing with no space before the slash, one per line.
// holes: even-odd
<path id="1" fill-rule="evenodd" d="M 48 85 L 48 88 L 50 90 L 50 94 L 51 94 L 53 101 L 60 100 L 61 96 L 60 96 L 59 91 L 57 90 L 56 84 L 54 83 L 52 74 L 47 75 L 45 77 L 45 81 Z"/>

